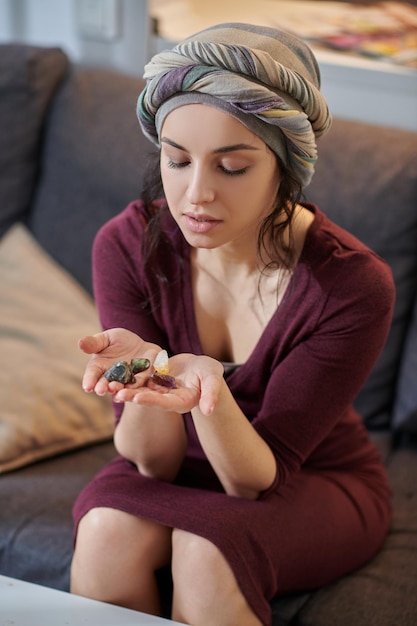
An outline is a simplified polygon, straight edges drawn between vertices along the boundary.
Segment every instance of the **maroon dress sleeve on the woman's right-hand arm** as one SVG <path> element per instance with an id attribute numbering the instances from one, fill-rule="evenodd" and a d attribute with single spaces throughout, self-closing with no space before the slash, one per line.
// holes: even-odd
<path id="1" fill-rule="evenodd" d="M 357 254 L 337 268 L 331 281 L 317 281 L 305 300 L 300 305 L 304 317 L 306 310 L 321 306 L 314 327 L 299 333 L 276 362 L 253 421 L 275 453 L 275 486 L 308 462 L 335 426 L 354 414 L 353 400 L 390 328 L 392 275 L 380 259 Z M 339 443 L 343 448 L 344 442 Z"/>

